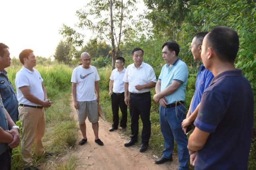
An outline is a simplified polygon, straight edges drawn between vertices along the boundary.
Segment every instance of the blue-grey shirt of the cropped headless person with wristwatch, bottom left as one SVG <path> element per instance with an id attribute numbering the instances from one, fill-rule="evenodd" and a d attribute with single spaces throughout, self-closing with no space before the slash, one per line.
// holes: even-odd
<path id="1" fill-rule="evenodd" d="M 3 130 L 8 130 L 7 117 L 6 117 L 6 113 L 5 113 L 5 110 L 4 110 L 4 105 L 2 103 L 1 97 L 0 97 L 0 127 Z M 7 148 L 8 148 L 7 143 L 0 143 L 0 155 L 2 153 L 4 153 Z"/>

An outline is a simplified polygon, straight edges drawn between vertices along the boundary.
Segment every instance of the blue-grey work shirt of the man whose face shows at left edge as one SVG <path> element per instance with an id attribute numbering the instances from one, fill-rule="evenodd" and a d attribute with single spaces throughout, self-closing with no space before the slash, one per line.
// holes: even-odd
<path id="1" fill-rule="evenodd" d="M 14 88 L 12 87 L 12 83 L 9 81 L 5 70 L 3 72 L 0 71 L 0 94 L 2 96 L 5 109 L 15 123 L 19 119 L 18 100 Z"/>

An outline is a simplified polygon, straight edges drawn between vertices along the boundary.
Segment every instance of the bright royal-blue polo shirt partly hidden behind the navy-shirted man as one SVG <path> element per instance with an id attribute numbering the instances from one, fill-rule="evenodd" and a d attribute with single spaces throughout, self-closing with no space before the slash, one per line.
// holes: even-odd
<path id="1" fill-rule="evenodd" d="M 194 112 L 197 105 L 200 103 L 202 93 L 209 87 L 213 77 L 212 72 L 206 69 L 202 64 L 196 76 L 196 90 L 194 91 L 194 97 L 191 103 L 191 113 Z"/>

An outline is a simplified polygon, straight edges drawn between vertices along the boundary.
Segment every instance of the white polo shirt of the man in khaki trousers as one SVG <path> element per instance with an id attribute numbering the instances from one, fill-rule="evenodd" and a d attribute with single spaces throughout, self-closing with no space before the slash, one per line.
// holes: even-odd
<path id="1" fill-rule="evenodd" d="M 19 88 L 23 86 L 29 86 L 30 93 L 36 96 L 38 99 L 44 101 L 44 91 L 42 87 L 43 81 L 44 79 L 36 69 L 30 71 L 29 69 L 22 67 L 22 69 L 16 73 L 15 77 L 15 85 L 19 104 L 41 106 L 26 99 Z"/>

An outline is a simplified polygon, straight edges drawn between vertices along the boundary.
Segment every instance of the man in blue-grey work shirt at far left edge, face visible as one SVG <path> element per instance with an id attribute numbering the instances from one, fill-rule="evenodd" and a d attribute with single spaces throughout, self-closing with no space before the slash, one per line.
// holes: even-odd
<path id="1" fill-rule="evenodd" d="M 9 47 L 4 43 L 0 43 L 0 94 L 4 103 L 5 109 L 14 122 L 19 119 L 18 100 L 12 87 L 12 83 L 7 77 L 6 67 L 11 64 Z"/>

